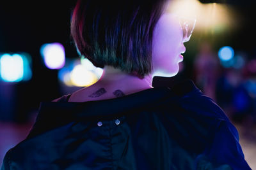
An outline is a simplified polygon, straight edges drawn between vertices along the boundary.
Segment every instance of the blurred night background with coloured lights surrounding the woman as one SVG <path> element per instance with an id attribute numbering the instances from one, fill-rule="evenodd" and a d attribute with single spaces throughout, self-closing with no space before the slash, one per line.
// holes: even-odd
<path id="1" fill-rule="evenodd" d="M 76 1 L 0 4 L 0 166 L 28 135 L 41 101 L 99 80 L 102 69 L 80 59 L 70 38 Z M 153 87 L 189 78 L 225 111 L 239 131 L 244 157 L 256 169 L 254 1 L 173 0 L 170 10 L 196 17 L 180 72 L 154 77 Z"/>

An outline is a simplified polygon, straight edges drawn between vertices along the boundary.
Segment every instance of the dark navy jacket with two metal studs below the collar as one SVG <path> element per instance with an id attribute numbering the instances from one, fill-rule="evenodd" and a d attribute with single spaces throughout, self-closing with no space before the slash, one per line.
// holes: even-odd
<path id="1" fill-rule="evenodd" d="M 42 102 L 4 169 L 250 169 L 236 127 L 188 80 L 102 101 Z"/>

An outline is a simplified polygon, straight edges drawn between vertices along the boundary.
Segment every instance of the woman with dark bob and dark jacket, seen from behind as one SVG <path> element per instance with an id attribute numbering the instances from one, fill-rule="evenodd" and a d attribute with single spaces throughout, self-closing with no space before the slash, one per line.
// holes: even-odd
<path id="1" fill-rule="evenodd" d="M 28 137 L 2 169 L 250 169 L 225 113 L 179 71 L 193 24 L 170 2 L 79 0 L 71 34 L 104 73 L 97 83 L 40 104 Z"/>

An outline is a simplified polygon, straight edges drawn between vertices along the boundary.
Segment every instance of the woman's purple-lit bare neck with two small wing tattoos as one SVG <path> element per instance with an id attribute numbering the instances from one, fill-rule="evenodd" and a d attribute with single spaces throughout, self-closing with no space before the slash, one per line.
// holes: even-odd
<path id="1" fill-rule="evenodd" d="M 140 79 L 111 66 L 105 66 L 103 70 L 99 81 L 74 92 L 70 97 L 70 101 L 83 102 L 112 99 L 153 88 L 151 74 Z"/>

